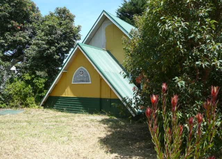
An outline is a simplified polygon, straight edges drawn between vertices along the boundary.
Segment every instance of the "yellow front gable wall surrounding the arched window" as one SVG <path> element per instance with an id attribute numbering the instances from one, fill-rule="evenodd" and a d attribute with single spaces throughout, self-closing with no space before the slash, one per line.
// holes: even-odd
<path id="1" fill-rule="evenodd" d="M 79 49 L 75 53 L 73 61 L 70 62 L 71 64 L 67 72 L 62 74 L 62 77 L 50 93 L 50 96 L 118 99 Z M 89 72 L 91 84 L 72 84 L 73 75 L 81 66 Z"/>

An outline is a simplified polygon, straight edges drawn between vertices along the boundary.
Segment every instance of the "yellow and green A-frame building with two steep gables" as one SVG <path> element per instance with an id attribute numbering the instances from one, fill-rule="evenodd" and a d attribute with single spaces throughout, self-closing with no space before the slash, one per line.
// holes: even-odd
<path id="1" fill-rule="evenodd" d="M 134 27 L 103 11 L 83 43 L 79 43 L 51 85 L 41 105 L 68 112 L 105 111 L 117 115 L 116 105 L 130 104 L 136 87 L 125 78 L 122 38 Z"/>

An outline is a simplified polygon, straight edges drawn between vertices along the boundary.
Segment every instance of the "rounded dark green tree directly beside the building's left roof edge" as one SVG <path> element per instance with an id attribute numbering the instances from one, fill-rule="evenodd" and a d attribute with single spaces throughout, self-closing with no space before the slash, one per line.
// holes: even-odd
<path id="1" fill-rule="evenodd" d="M 66 55 L 80 39 L 80 26 L 75 27 L 74 15 L 67 8 L 56 8 L 54 13 L 42 18 L 32 45 L 26 49 L 24 71 L 46 76 L 51 84 L 58 74 Z"/>

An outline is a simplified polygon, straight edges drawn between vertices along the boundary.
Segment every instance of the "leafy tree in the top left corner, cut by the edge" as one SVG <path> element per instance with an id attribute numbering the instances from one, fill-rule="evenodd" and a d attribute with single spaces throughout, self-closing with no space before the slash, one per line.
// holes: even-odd
<path id="1" fill-rule="evenodd" d="M 24 51 L 36 36 L 35 23 L 41 19 L 30 0 L 0 1 L 0 57 L 15 65 L 24 60 Z M 8 68 L 10 69 L 10 67 Z"/>

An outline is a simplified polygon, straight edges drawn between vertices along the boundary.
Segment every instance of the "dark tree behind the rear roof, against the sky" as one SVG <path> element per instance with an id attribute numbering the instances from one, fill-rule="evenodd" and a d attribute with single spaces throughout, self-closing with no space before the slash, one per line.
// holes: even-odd
<path id="1" fill-rule="evenodd" d="M 117 10 L 117 16 L 128 22 L 131 25 L 135 25 L 134 16 L 140 16 L 146 9 L 146 0 L 124 0 L 122 6 Z"/>

